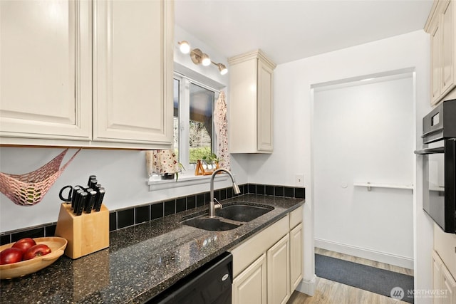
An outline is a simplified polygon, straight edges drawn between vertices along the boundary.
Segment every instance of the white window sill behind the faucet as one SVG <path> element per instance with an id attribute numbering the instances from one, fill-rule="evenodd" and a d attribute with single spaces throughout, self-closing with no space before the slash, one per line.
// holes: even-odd
<path id="1" fill-rule="evenodd" d="M 214 182 L 222 182 L 228 179 L 228 174 L 217 174 Z M 170 189 L 176 187 L 193 186 L 195 184 L 209 184 L 210 175 L 185 175 L 179 174 L 179 179 L 160 179 L 160 177 L 150 177 L 147 181 L 149 191 Z"/>

